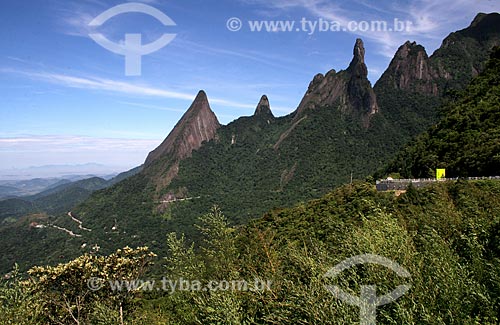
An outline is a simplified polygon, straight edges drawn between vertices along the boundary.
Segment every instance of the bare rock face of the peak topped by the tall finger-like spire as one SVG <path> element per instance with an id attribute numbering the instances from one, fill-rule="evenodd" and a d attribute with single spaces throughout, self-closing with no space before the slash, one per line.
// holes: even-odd
<path id="1" fill-rule="evenodd" d="M 339 72 L 330 70 L 326 75 L 316 75 L 299 104 L 295 119 L 317 107 L 340 105 L 343 113 L 359 115 L 367 125 L 370 116 L 379 110 L 367 76 L 365 48 L 363 41 L 357 39 L 349 67 Z"/>

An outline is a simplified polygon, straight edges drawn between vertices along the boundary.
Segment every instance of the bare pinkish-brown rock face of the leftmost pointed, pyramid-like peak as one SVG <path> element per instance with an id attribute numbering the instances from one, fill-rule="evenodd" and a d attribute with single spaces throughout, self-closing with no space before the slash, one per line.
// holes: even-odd
<path id="1" fill-rule="evenodd" d="M 220 123 L 210 109 L 207 95 L 201 90 L 167 138 L 149 153 L 144 166 L 147 168 L 165 155 L 178 160 L 189 157 L 203 141 L 213 139 L 219 127 Z"/>

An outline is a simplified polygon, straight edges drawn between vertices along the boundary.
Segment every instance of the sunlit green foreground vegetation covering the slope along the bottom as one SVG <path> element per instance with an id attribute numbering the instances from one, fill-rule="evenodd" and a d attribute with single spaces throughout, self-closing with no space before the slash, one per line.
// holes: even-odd
<path id="1" fill-rule="evenodd" d="M 380 324 L 497 324 L 500 319 L 500 183 L 451 182 L 396 197 L 369 184 L 344 186 L 293 209 L 230 227 L 216 208 L 198 221 L 203 242 L 166 236 L 157 263 L 170 280 L 271 281 L 266 290 L 92 291 L 87 281 L 146 279 L 152 255 L 142 248 L 84 255 L 29 279 L 2 282 L 1 324 L 351 324 L 359 308 L 337 300 L 325 284 L 359 296 L 400 284 L 410 291 L 377 309 Z M 342 260 L 377 254 L 411 279 L 365 265 L 337 279 L 325 273 Z M 80 318 L 75 317 L 79 315 Z"/>

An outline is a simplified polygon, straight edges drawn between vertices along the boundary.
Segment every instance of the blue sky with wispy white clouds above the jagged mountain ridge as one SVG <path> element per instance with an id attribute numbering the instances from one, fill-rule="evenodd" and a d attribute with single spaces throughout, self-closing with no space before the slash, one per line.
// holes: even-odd
<path id="1" fill-rule="evenodd" d="M 141 164 L 170 132 L 200 89 L 223 124 L 251 115 L 267 94 L 275 115 L 292 112 L 316 73 L 344 69 L 357 37 L 365 42 L 372 83 L 406 40 L 431 54 L 450 32 L 497 0 L 147 0 L 176 26 L 142 13 L 89 27 L 124 0 L 2 0 L 0 4 L 0 170 L 96 162 L 117 169 Z M 242 28 L 228 30 L 229 18 Z M 252 32 L 248 21 L 394 18 L 405 32 Z M 297 26 L 297 25 L 295 25 Z M 126 76 L 125 60 L 94 42 L 141 33 L 175 39 L 142 57 L 142 74 Z"/>

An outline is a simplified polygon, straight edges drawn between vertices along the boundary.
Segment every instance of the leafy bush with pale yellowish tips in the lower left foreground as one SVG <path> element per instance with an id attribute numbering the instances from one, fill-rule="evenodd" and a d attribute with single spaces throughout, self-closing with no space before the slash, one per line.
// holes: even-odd
<path id="1" fill-rule="evenodd" d="M 24 282 L 36 297 L 40 323 L 122 323 L 138 291 L 113 290 L 110 281 L 131 282 L 144 274 L 155 255 L 148 248 L 124 248 L 109 256 L 85 254 L 56 267 L 34 267 Z"/>

